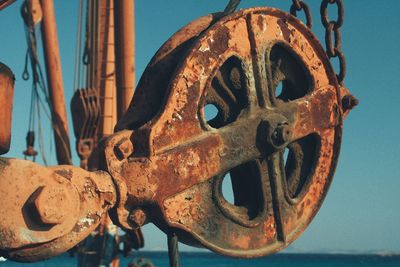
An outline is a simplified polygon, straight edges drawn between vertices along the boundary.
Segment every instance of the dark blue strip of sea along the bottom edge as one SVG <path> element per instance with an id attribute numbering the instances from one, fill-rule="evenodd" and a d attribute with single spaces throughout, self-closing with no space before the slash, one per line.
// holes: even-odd
<path id="1" fill-rule="evenodd" d="M 120 266 L 126 267 L 137 257 L 150 259 L 154 266 L 169 266 L 167 252 L 141 252 L 135 257 L 121 257 Z M 343 254 L 285 254 L 279 253 L 258 259 L 232 259 L 213 253 L 182 252 L 181 266 L 186 267 L 400 267 L 400 255 L 343 255 Z M 76 258 L 68 255 L 47 260 L 44 262 L 23 264 L 11 261 L 0 262 L 4 267 L 67 267 L 76 266 Z"/>

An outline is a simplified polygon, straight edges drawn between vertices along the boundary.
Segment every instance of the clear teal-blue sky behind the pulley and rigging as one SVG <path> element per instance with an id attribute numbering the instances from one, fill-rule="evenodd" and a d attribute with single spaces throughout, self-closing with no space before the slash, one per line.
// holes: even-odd
<path id="1" fill-rule="evenodd" d="M 25 149 L 31 88 L 30 82 L 21 79 L 26 51 L 19 15 L 21 2 L 0 12 L 0 61 L 10 66 L 17 78 L 12 150 L 7 156 L 19 158 Z M 242 2 L 241 8 L 269 4 L 288 10 L 291 1 Z M 314 30 L 321 38 L 320 1 L 307 2 L 314 14 Z M 223 10 L 226 3 L 227 0 L 137 0 L 137 79 L 171 34 L 199 16 Z M 55 5 L 66 97 L 70 99 L 78 1 L 55 0 Z M 400 1 L 347 0 L 345 6 L 346 86 L 361 103 L 345 122 L 340 161 L 328 197 L 292 248 L 400 252 Z M 52 140 L 48 128 L 44 137 Z M 76 155 L 74 161 L 78 163 Z M 54 156 L 50 162 L 55 164 Z M 166 249 L 165 236 L 154 226 L 145 227 L 145 237 L 147 249 Z"/>

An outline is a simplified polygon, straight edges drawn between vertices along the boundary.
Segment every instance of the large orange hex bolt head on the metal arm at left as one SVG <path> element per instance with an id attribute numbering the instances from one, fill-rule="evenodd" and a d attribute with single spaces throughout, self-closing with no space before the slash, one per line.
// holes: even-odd
<path id="1" fill-rule="evenodd" d="M 73 212 L 71 197 L 63 187 L 44 187 L 35 199 L 35 208 L 43 224 L 61 224 Z"/>

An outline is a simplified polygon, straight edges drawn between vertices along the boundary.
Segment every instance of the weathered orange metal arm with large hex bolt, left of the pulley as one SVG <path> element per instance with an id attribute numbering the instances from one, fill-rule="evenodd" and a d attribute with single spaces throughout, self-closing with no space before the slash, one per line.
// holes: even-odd
<path id="1" fill-rule="evenodd" d="M 88 236 L 116 201 L 111 177 L 72 166 L 0 159 L 0 253 L 50 258 Z"/>

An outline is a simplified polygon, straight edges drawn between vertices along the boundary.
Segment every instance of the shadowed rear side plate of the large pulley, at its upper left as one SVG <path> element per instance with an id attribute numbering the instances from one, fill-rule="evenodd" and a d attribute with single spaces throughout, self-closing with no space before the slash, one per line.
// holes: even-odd
<path id="1" fill-rule="evenodd" d="M 218 14 L 211 14 L 189 23 L 158 50 L 139 81 L 138 88 L 143 89 L 135 91 L 135 101 L 130 103 L 129 115 L 118 121 L 116 131 L 139 128 L 162 110 L 169 82 L 186 51 L 195 38 L 219 17 Z"/>

